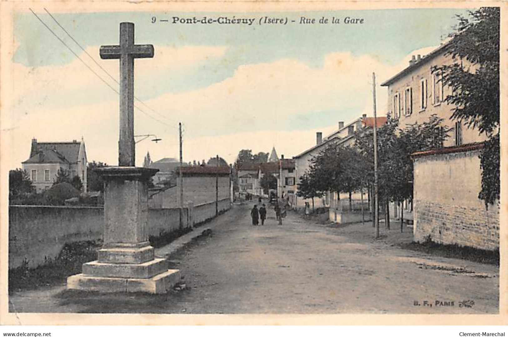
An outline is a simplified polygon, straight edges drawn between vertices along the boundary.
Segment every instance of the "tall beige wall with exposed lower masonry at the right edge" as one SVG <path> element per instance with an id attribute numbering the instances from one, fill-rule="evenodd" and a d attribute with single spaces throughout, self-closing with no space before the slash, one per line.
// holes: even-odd
<path id="1" fill-rule="evenodd" d="M 499 208 L 485 207 L 479 151 L 414 158 L 414 240 L 495 250 Z"/>

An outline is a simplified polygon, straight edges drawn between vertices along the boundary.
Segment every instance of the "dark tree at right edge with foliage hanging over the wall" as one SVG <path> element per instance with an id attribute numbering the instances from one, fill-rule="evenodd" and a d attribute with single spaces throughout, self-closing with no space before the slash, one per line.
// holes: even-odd
<path id="1" fill-rule="evenodd" d="M 446 55 L 456 61 L 433 68 L 452 93 L 444 102 L 452 104 L 452 119 L 477 127 L 489 141 L 480 155 L 482 190 L 486 204 L 499 199 L 499 7 L 484 7 L 458 16 Z M 466 60 L 464 64 L 463 60 Z"/>

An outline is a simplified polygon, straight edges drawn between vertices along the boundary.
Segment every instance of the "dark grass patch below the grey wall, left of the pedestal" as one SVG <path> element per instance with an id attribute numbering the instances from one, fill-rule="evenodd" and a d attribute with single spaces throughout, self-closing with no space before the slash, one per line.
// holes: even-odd
<path id="1" fill-rule="evenodd" d="M 68 276 L 81 273 L 82 264 L 97 260 L 102 241 L 80 241 L 63 246 L 58 256 L 36 268 L 28 261 L 9 271 L 9 292 L 61 284 Z"/>

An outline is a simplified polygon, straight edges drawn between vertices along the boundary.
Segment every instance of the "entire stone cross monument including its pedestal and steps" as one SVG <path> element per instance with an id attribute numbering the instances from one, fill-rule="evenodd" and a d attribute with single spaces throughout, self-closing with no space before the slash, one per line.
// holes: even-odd
<path id="1" fill-rule="evenodd" d="M 104 179 L 104 245 L 99 259 L 67 279 L 68 289 L 165 293 L 180 272 L 155 258 L 148 243 L 148 182 L 158 171 L 134 167 L 134 59 L 153 57 L 152 45 L 134 44 L 134 24 L 120 23 L 120 44 L 102 46 L 101 58 L 120 60 L 118 166 L 96 172 Z"/>

